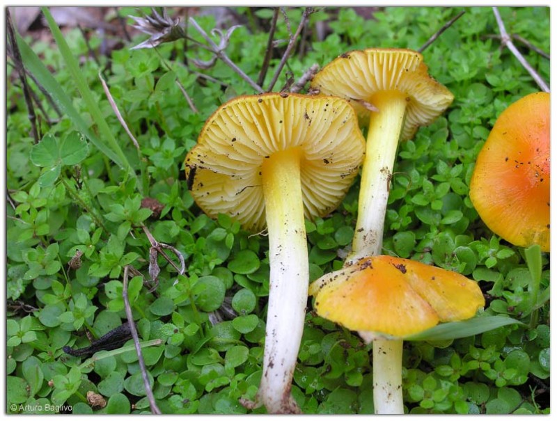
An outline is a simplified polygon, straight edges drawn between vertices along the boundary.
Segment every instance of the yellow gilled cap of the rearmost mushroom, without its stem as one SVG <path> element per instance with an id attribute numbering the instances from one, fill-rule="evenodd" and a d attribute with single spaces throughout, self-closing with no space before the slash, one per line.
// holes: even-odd
<path id="1" fill-rule="evenodd" d="M 453 102 L 453 94 L 427 74 L 423 56 L 410 49 L 342 54 L 315 75 L 311 88 L 351 100 L 361 116 L 369 116 L 371 111 L 363 104 L 373 105 L 375 95 L 402 93 L 408 102 L 402 140 L 412 138 L 418 127 L 429 125 Z"/>

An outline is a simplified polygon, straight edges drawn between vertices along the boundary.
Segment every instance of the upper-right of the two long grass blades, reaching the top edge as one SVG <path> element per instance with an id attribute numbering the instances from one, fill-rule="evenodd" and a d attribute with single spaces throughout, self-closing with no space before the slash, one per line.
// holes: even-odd
<path id="1" fill-rule="evenodd" d="M 118 145 L 116 138 L 114 138 L 111 129 L 107 124 L 107 121 L 104 120 L 104 117 L 102 116 L 102 113 L 99 107 L 97 106 L 97 102 L 95 101 L 95 98 L 91 94 L 91 90 L 89 89 L 87 81 L 85 80 L 83 74 L 81 73 L 81 70 L 79 69 L 79 64 L 77 63 L 77 60 L 74 58 L 72 51 L 70 50 L 70 47 L 68 47 L 68 44 L 65 42 L 64 36 L 60 31 L 60 28 L 58 28 L 58 25 L 54 21 L 54 18 L 50 14 L 48 8 L 43 7 L 41 8 L 41 10 L 42 13 L 45 15 L 45 18 L 47 19 L 50 31 L 52 31 L 54 40 L 56 40 L 56 45 L 58 45 L 58 49 L 60 49 L 62 57 L 64 58 L 65 65 L 68 66 L 68 70 L 70 71 L 70 74 L 72 75 L 75 84 L 79 89 L 79 93 L 81 93 L 81 97 L 83 97 L 87 109 L 91 113 L 91 116 L 93 117 L 93 121 L 95 121 L 95 124 L 97 125 L 97 128 L 99 129 L 102 138 L 106 139 L 111 150 L 113 152 L 116 152 L 116 154 L 118 155 L 119 162 L 116 162 L 116 164 L 120 165 L 120 167 L 122 168 L 126 168 L 127 170 L 130 171 L 130 173 L 134 177 L 136 177 L 132 166 L 130 166 L 130 163 L 127 161 L 124 152 L 120 148 L 120 145 Z"/>

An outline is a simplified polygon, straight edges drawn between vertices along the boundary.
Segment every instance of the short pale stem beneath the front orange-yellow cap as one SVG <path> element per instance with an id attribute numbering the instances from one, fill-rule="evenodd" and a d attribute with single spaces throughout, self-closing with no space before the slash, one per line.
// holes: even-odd
<path id="1" fill-rule="evenodd" d="M 373 341 L 373 406 L 376 414 L 403 414 L 402 340 Z"/>

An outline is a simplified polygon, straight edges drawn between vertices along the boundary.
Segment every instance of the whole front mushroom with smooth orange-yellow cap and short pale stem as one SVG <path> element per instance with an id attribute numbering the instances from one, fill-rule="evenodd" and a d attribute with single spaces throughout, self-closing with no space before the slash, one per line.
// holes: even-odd
<path id="1" fill-rule="evenodd" d="M 485 300 L 460 273 L 386 255 L 364 257 L 310 285 L 315 310 L 373 346 L 375 413 L 404 413 L 402 339 L 476 315 Z M 381 360 L 381 364 L 377 361 Z"/>

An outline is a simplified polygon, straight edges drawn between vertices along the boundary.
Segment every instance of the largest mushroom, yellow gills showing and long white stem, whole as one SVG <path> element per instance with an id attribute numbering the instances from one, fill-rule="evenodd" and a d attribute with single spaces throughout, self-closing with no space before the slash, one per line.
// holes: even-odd
<path id="1" fill-rule="evenodd" d="M 191 195 L 212 217 L 229 214 L 269 235 L 269 303 L 256 408 L 298 413 L 290 395 L 308 297 L 304 215 L 324 216 L 345 196 L 365 141 L 354 109 L 334 97 L 237 97 L 205 122 L 185 160 Z"/>

